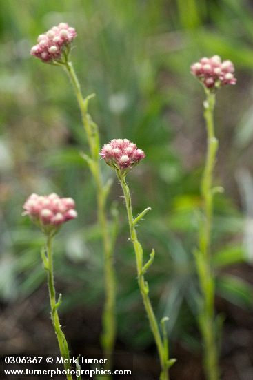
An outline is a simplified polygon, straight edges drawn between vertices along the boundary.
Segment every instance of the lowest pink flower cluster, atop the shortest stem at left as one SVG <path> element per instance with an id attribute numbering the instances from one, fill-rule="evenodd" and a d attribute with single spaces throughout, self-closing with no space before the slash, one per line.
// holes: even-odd
<path id="1" fill-rule="evenodd" d="M 72 198 L 60 198 L 52 193 L 49 196 L 32 194 L 23 205 L 23 215 L 29 215 L 42 226 L 59 226 L 68 220 L 77 218 Z"/>

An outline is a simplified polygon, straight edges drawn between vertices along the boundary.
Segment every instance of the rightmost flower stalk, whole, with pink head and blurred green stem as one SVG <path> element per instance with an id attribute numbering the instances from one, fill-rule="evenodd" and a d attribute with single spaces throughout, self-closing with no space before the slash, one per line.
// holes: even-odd
<path id="1" fill-rule="evenodd" d="M 196 269 L 199 276 L 201 299 L 199 300 L 199 328 L 203 339 L 205 377 L 219 380 L 218 319 L 215 314 L 215 274 L 211 263 L 211 233 L 213 225 L 214 195 L 222 191 L 213 187 L 213 173 L 218 149 L 214 133 L 214 106 L 216 91 L 227 85 L 236 84 L 232 61 L 222 61 L 219 55 L 203 57 L 192 64 L 191 72 L 202 84 L 206 99 L 203 102 L 207 133 L 207 153 L 201 180 L 203 219 L 199 225 L 199 249 L 195 251 Z"/>

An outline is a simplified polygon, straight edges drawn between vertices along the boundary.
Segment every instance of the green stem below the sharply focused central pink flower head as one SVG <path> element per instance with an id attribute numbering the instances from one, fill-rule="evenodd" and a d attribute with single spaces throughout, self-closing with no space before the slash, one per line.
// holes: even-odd
<path id="1" fill-rule="evenodd" d="M 145 281 L 144 278 L 144 271 L 143 271 L 143 249 L 141 247 L 141 244 L 139 243 L 136 229 L 134 227 L 134 218 L 132 215 L 132 201 L 130 196 L 130 191 L 128 184 L 125 182 L 125 175 L 121 173 L 120 171 L 117 171 L 117 175 L 119 178 L 119 181 L 121 183 L 121 187 L 123 189 L 123 194 L 125 198 L 125 206 L 128 213 L 128 223 L 130 227 L 130 237 L 132 240 L 132 244 L 134 246 L 134 252 L 136 256 L 136 267 L 137 267 L 137 274 L 138 274 L 138 284 L 139 289 L 141 292 L 141 296 L 143 298 L 143 303 L 145 306 L 145 310 L 148 314 L 148 320 L 150 322 L 150 328 L 152 330 L 152 333 L 154 335 L 154 340 L 156 342 L 156 347 L 159 353 L 159 360 L 161 364 L 161 374 L 160 374 L 160 380 L 168 380 L 169 374 L 168 374 L 168 345 L 165 348 L 163 339 L 161 337 L 161 333 L 159 331 L 159 326 L 156 321 L 156 317 L 154 315 L 154 311 L 150 302 L 150 298 L 148 296 L 149 289 L 148 289 L 148 283 Z"/>

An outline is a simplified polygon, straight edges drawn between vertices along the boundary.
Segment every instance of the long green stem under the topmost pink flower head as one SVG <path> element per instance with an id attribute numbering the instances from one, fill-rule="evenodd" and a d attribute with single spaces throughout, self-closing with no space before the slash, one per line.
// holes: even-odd
<path id="1" fill-rule="evenodd" d="M 113 265 L 113 243 L 110 238 L 108 220 L 106 218 L 106 197 L 107 189 L 103 184 L 101 169 L 99 164 L 99 130 L 97 125 L 92 121 L 90 115 L 87 112 L 88 99 L 83 99 L 81 93 L 81 86 L 79 80 L 74 71 L 72 63 L 66 59 L 65 69 L 74 87 L 74 92 L 77 97 L 77 102 L 81 111 L 81 117 L 83 121 L 83 127 L 88 137 L 88 144 L 90 148 L 90 157 L 88 157 L 88 164 L 92 172 L 94 182 L 97 188 L 97 214 L 99 225 L 101 228 L 101 234 L 103 238 L 103 251 L 105 257 L 104 266 L 104 283 L 105 283 L 105 304 L 103 309 L 102 323 L 103 332 L 101 335 L 101 344 L 103 346 L 103 352 L 105 355 L 110 356 L 107 361 L 107 370 L 110 370 L 112 365 L 112 352 L 114 350 L 115 336 L 116 336 L 116 312 L 115 312 L 115 297 L 116 297 L 116 276 Z"/>

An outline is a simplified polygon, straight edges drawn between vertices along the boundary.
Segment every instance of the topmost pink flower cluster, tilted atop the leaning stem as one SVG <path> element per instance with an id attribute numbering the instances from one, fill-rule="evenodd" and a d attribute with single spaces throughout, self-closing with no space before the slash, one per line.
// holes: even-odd
<path id="1" fill-rule="evenodd" d="M 63 48 L 69 45 L 77 32 L 68 23 L 59 23 L 58 26 L 53 26 L 48 32 L 39 35 L 38 44 L 32 46 L 31 55 L 38 57 L 43 62 L 55 61 L 61 58 Z"/>

